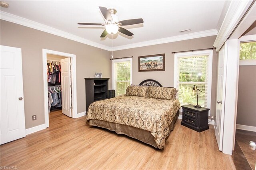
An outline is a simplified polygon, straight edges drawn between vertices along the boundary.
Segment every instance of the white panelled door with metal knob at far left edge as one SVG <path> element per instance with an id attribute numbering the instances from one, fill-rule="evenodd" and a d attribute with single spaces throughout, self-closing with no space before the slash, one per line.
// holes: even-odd
<path id="1" fill-rule="evenodd" d="M 1 45 L 0 144 L 26 136 L 21 49 Z"/>

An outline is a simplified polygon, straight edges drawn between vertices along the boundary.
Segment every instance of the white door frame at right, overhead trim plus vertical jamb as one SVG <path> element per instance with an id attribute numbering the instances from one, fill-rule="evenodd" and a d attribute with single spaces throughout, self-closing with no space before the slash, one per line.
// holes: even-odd
<path id="1" fill-rule="evenodd" d="M 239 71 L 239 38 L 255 21 L 255 1 L 232 1 L 214 42 L 216 51 L 228 41 L 227 79 L 222 152 L 232 155 L 236 132 Z M 236 15 L 234 15 L 236 14 Z"/>

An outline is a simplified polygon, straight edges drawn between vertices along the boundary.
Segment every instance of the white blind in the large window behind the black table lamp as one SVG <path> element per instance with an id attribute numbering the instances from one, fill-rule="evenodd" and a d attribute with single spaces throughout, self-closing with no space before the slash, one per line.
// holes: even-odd
<path id="1" fill-rule="evenodd" d="M 197 90 L 193 92 L 193 85 L 196 85 L 199 92 L 198 104 L 207 106 L 208 91 L 208 62 L 209 55 L 178 57 L 176 71 L 176 88 L 178 89 L 177 99 L 181 105 L 196 104 Z"/>

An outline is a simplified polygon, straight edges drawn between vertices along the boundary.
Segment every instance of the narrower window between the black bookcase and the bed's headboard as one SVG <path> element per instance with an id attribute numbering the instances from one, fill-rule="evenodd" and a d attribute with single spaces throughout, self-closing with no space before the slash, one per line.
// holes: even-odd
<path id="1" fill-rule="evenodd" d="M 126 88 L 132 83 L 132 58 L 113 59 L 112 71 L 116 96 L 124 95 Z"/>

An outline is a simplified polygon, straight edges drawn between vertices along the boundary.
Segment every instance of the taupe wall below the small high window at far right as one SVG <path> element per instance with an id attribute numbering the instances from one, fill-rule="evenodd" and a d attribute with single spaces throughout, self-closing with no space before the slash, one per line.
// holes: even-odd
<path id="1" fill-rule="evenodd" d="M 239 67 L 236 124 L 256 127 L 256 65 Z"/>

